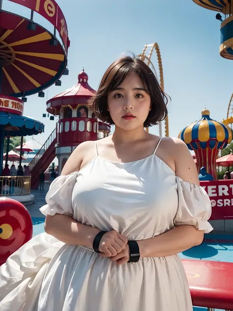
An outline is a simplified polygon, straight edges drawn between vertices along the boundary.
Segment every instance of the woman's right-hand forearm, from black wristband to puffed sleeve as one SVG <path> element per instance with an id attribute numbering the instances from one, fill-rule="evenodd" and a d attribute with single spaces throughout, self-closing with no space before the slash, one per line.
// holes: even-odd
<path id="1" fill-rule="evenodd" d="M 180 225 L 154 238 L 137 241 L 141 257 L 175 255 L 203 242 L 204 231 L 194 226 Z"/>

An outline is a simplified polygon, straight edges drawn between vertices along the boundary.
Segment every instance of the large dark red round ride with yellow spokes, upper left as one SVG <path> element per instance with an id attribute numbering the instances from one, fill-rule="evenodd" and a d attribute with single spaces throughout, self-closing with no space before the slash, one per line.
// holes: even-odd
<path id="1" fill-rule="evenodd" d="M 22 97 L 38 93 L 59 79 L 66 68 L 69 39 L 65 18 L 54 0 L 10 1 L 31 9 L 31 19 L 0 10 L 1 94 Z M 54 33 L 33 21 L 34 11 L 52 23 Z"/>

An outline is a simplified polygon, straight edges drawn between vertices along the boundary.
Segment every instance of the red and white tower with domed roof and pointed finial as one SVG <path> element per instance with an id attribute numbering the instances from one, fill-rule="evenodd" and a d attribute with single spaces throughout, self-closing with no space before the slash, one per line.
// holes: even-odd
<path id="1" fill-rule="evenodd" d="M 56 156 L 59 174 L 74 149 L 84 141 L 109 135 L 111 126 L 99 122 L 88 100 L 95 91 L 88 84 L 87 73 L 78 75 L 78 83 L 47 101 L 47 111 L 59 116 Z"/>

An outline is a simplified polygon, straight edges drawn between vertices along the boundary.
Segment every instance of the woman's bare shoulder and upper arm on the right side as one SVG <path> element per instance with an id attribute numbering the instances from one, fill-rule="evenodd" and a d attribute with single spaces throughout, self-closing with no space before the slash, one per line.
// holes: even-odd
<path id="1" fill-rule="evenodd" d="M 174 170 L 175 175 L 191 184 L 199 185 L 196 164 L 187 145 L 176 137 L 164 137 L 161 145 L 159 151 L 162 157 L 164 156 L 164 161 Z"/>

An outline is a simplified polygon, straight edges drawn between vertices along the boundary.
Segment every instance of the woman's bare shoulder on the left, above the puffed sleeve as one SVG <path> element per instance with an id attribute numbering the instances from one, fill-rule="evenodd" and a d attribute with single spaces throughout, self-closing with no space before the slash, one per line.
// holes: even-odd
<path id="1" fill-rule="evenodd" d="M 61 175 L 68 175 L 73 172 L 78 172 L 83 165 L 83 162 L 88 161 L 88 157 L 95 155 L 95 142 L 85 141 L 75 148 L 65 163 Z"/>

